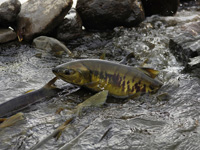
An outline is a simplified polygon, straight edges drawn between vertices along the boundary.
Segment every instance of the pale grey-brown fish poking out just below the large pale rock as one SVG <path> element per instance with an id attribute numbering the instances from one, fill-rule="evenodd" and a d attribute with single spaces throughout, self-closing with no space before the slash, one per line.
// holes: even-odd
<path id="1" fill-rule="evenodd" d="M 53 52 L 55 55 L 61 55 L 63 52 L 67 52 L 70 56 L 72 55 L 63 43 L 51 37 L 39 36 L 33 40 L 32 44 L 35 48 Z"/>

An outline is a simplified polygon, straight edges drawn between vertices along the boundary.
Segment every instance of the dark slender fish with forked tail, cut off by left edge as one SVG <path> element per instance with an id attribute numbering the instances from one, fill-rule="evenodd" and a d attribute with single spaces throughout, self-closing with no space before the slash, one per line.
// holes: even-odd
<path id="1" fill-rule="evenodd" d="M 0 117 L 11 116 L 16 112 L 19 112 L 20 110 L 30 106 L 31 104 L 39 102 L 45 98 L 55 96 L 58 92 L 63 90 L 53 85 L 56 80 L 57 77 L 54 77 L 42 88 L 20 95 L 0 104 Z"/>

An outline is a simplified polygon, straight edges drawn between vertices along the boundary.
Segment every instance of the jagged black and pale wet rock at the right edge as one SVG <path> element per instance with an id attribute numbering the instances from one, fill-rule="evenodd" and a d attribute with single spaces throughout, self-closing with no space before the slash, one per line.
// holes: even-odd
<path id="1" fill-rule="evenodd" d="M 197 58 L 200 56 L 200 22 L 184 25 L 182 32 L 170 39 L 169 48 L 187 71 L 198 69 L 200 67 L 197 65 Z"/>

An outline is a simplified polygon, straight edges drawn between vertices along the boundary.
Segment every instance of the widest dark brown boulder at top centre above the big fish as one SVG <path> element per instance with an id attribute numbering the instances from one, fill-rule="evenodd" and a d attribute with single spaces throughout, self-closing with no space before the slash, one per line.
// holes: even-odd
<path id="1" fill-rule="evenodd" d="M 140 0 L 78 0 L 76 9 L 86 29 L 132 27 L 145 19 Z"/>

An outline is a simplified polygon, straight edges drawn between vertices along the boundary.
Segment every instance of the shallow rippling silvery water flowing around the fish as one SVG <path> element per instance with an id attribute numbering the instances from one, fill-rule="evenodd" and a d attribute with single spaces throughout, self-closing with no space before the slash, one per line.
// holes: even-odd
<path id="1" fill-rule="evenodd" d="M 158 78 L 164 86 L 154 95 L 106 103 L 102 108 L 85 109 L 56 141 L 51 139 L 41 149 L 200 149 L 200 79 L 182 73 L 182 64 L 169 51 L 169 39 L 177 35 L 181 25 L 200 21 L 195 7 L 180 10 L 174 17 L 152 16 L 138 28 L 118 27 L 114 32 L 88 33 L 67 43 L 77 58 L 99 58 L 120 61 L 134 52 L 137 64 L 160 70 Z M 54 77 L 51 69 L 72 60 L 67 54 L 55 57 L 51 52 L 36 50 L 28 44 L 10 43 L 0 46 L 0 103 L 39 89 Z M 134 64 L 135 61 L 130 62 Z M 30 106 L 25 120 L 0 130 L 0 149 L 30 149 L 50 135 L 70 117 L 70 110 L 93 93 L 69 86 L 57 97 Z M 168 100 L 157 96 L 168 93 Z M 59 108 L 65 108 L 56 114 Z"/>

